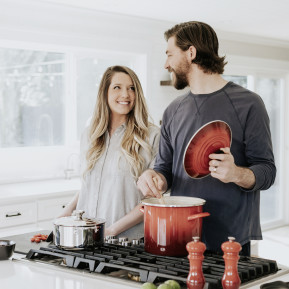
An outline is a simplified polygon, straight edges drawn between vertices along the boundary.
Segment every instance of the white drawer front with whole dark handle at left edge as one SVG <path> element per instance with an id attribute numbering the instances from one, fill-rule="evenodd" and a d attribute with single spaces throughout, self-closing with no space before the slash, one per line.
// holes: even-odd
<path id="1" fill-rule="evenodd" d="M 0 207 L 0 228 L 36 223 L 36 218 L 36 202 Z"/>

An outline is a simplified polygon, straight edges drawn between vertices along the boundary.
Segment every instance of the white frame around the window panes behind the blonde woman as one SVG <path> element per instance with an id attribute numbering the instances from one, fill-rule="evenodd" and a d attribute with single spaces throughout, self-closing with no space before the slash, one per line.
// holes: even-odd
<path id="1" fill-rule="evenodd" d="M 64 54 L 64 144 L 59 146 L 34 146 L 0 148 L 0 185 L 23 181 L 37 181 L 44 179 L 64 178 L 67 160 L 70 155 L 79 153 L 80 141 L 77 137 L 77 96 L 76 96 L 76 55 L 91 57 L 122 57 L 134 63 L 132 69 L 138 74 L 144 93 L 147 84 L 147 57 L 145 54 L 123 52 L 115 50 L 102 50 L 83 47 L 69 47 L 46 45 L 39 43 L 26 43 L 18 41 L 0 40 L 0 46 L 11 49 L 39 50 Z M 75 129 L 71 129 L 74 127 Z M 31 160 L 29 160 L 29 157 Z M 57 160 L 52 164 L 51 160 Z M 47 170 L 43 162 L 48 164 Z M 25 164 L 34 166 L 26 169 Z M 78 176 L 75 173 L 72 176 Z"/>

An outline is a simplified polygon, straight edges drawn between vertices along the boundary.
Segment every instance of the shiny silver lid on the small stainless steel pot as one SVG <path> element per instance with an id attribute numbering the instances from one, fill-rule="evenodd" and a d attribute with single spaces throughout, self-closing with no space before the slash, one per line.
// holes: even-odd
<path id="1" fill-rule="evenodd" d="M 54 225 L 65 227 L 94 227 L 105 223 L 104 219 L 83 218 L 84 211 L 74 211 L 72 216 L 58 218 L 54 221 Z"/>

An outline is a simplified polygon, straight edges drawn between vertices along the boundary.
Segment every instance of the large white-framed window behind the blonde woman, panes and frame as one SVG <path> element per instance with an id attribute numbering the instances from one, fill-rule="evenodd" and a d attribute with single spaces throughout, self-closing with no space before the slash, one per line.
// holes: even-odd
<path id="1" fill-rule="evenodd" d="M 108 66 L 132 68 L 145 90 L 142 54 L 2 44 L 0 183 L 65 177 Z"/>

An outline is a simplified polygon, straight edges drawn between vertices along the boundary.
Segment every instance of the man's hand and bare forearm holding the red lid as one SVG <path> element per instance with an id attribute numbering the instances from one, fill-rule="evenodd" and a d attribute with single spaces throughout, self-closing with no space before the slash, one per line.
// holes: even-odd
<path id="1" fill-rule="evenodd" d="M 249 189 L 255 185 L 255 175 L 248 169 L 235 165 L 235 160 L 230 148 L 221 148 L 223 154 L 210 154 L 209 170 L 213 178 L 223 183 L 235 183 L 240 187 Z"/>

